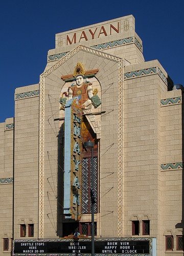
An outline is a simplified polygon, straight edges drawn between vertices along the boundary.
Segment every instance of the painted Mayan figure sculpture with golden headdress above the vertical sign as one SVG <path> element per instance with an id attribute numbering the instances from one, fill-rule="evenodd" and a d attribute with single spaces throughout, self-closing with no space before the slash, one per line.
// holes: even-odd
<path id="1" fill-rule="evenodd" d="M 95 89 L 93 92 L 92 83 L 84 82 L 85 73 L 86 71 L 82 66 L 82 63 L 78 62 L 73 74 L 75 82 L 68 88 L 68 92 L 64 92 L 62 98 L 60 98 L 61 109 L 64 109 L 67 100 L 74 97 L 77 97 L 83 110 L 91 109 L 92 105 L 97 108 L 101 104 L 101 100 L 97 95 L 98 90 Z M 63 76 L 61 78 L 65 80 L 65 77 L 68 78 L 68 76 Z"/>

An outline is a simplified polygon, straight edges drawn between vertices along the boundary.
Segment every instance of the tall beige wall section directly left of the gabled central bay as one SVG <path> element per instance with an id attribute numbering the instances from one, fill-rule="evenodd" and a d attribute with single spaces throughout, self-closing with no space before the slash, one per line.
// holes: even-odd
<path id="1" fill-rule="evenodd" d="M 38 84 L 15 90 L 14 154 L 14 239 L 20 238 L 20 224 L 34 224 L 38 216 Z M 17 95 L 20 95 L 17 98 Z"/>

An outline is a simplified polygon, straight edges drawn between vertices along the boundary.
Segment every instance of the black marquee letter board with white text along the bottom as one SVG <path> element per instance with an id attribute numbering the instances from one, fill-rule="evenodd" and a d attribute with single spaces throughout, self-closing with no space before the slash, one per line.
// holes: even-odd
<path id="1" fill-rule="evenodd" d="M 91 241 L 64 240 L 15 240 L 13 255 L 88 255 L 91 254 Z M 152 255 L 152 239 L 97 239 L 95 254 L 108 255 Z"/>

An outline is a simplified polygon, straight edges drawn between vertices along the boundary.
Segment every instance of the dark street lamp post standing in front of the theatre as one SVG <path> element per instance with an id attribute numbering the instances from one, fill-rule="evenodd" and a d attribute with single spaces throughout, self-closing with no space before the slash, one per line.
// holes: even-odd
<path id="1" fill-rule="evenodd" d="M 91 188 L 90 188 L 90 200 L 91 200 L 91 256 L 95 255 L 95 230 L 94 230 L 94 204 L 96 203 L 94 195 L 94 143 L 89 141 L 84 142 L 85 148 L 91 148 Z"/>

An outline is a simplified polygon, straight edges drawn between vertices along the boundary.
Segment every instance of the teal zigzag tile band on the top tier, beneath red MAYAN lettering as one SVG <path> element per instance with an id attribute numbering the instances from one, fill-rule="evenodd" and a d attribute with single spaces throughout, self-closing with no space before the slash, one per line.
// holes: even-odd
<path id="1" fill-rule="evenodd" d="M 115 46 L 132 44 L 133 42 L 142 51 L 143 46 L 141 45 L 141 43 L 134 36 L 131 36 L 131 37 L 128 37 L 128 38 L 123 38 L 123 39 L 116 40 L 116 41 L 105 42 L 104 44 L 91 46 L 91 48 L 95 48 L 97 50 L 103 50 L 103 49 L 108 49 L 108 48 L 115 47 Z M 48 56 L 48 61 L 53 61 L 53 60 L 60 59 L 63 56 L 65 56 L 66 53 L 68 53 L 68 52 L 62 52 L 62 53 L 58 53 L 58 54 L 54 54 L 54 55 L 49 55 Z"/>

